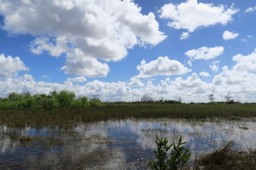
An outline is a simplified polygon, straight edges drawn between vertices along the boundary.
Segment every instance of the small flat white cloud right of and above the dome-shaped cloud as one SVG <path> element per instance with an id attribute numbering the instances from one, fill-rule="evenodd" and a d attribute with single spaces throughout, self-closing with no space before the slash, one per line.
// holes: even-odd
<path id="1" fill-rule="evenodd" d="M 212 48 L 208 48 L 205 46 L 202 46 L 201 48 L 198 48 L 197 50 L 189 50 L 185 54 L 191 59 L 195 60 L 209 60 L 209 59 L 215 59 L 219 55 L 221 55 L 224 51 L 223 46 L 215 46 Z"/>

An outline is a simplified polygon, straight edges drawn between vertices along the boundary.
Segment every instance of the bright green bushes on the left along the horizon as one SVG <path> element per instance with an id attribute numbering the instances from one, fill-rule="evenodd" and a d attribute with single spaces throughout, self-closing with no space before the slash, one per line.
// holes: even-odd
<path id="1" fill-rule="evenodd" d="M 62 90 L 53 91 L 49 95 L 29 92 L 17 94 L 12 92 L 5 98 L 0 98 L 0 108 L 58 108 L 58 107 L 102 107 L 104 103 L 98 98 L 76 97 L 74 92 Z"/>

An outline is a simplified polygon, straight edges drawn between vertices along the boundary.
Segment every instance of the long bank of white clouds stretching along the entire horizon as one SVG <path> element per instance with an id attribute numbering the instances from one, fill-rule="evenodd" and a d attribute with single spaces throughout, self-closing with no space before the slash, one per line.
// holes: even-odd
<path id="1" fill-rule="evenodd" d="M 10 92 L 22 93 L 27 91 L 31 94 L 48 94 L 52 90 L 66 89 L 74 91 L 77 96 L 92 97 L 97 94 L 102 101 L 132 101 L 148 94 L 154 99 L 162 97 L 164 99 L 177 99 L 181 96 L 184 102 L 208 102 L 208 94 L 214 94 L 216 101 L 224 101 L 227 92 L 232 92 L 234 100 L 255 102 L 255 59 L 256 49 L 248 55 L 235 55 L 232 57 L 232 60 L 236 62 L 234 66 L 231 66 L 230 69 L 227 66 L 222 67 L 220 73 L 216 74 L 212 82 L 209 83 L 202 81 L 196 73 L 185 78 L 179 76 L 174 80 L 165 78 L 159 83 L 153 83 L 154 80 L 143 83 L 140 78 L 135 76 L 131 78 L 129 83 L 123 81 L 109 83 L 95 80 L 84 83 L 84 85 L 73 84 L 72 81 L 65 81 L 62 84 L 36 82 L 31 75 L 24 74 L 23 76 L 0 80 L 0 96 L 7 96 Z M 214 61 L 212 66 L 219 67 L 218 63 L 218 60 Z M 202 76 L 204 72 L 199 74 Z"/>

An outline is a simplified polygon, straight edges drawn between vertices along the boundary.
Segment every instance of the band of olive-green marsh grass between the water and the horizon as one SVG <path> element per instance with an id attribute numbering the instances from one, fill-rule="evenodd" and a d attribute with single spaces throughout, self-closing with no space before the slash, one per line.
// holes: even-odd
<path id="1" fill-rule="evenodd" d="M 79 122 L 125 118 L 256 117 L 256 104 L 104 104 L 101 108 L 0 109 L 0 124 L 8 127 L 70 127 Z"/>

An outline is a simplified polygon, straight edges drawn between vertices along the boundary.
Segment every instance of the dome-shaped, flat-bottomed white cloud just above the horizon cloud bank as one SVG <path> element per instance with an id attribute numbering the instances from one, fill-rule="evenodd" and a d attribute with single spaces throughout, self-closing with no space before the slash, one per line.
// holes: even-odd
<path id="1" fill-rule="evenodd" d="M 140 74 L 137 76 L 138 78 L 147 78 L 156 75 L 179 75 L 191 71 L 191 69 L 188 69 L 179 61 L 170 60 L 168 57 L 158 57 L 156 60 L 148 63 L 142 60 L 141 64 L 137 66 L 137 69 L 140 71 Z"/>

